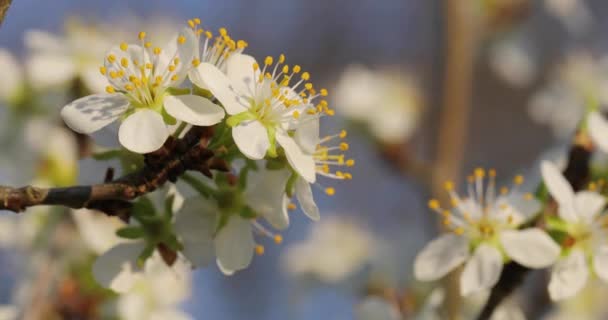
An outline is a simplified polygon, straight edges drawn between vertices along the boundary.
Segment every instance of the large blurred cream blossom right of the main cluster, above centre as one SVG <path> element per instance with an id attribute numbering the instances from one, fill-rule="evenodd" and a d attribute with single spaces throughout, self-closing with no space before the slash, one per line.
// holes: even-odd
<path id="1" fill-rule="evenodd" d="M 381 142 L 406 141 L 418 127 L 422 103 L 411 79 L 394 70 L 349 66 L 336 86 L 334 104 L 368 126 Z"/>

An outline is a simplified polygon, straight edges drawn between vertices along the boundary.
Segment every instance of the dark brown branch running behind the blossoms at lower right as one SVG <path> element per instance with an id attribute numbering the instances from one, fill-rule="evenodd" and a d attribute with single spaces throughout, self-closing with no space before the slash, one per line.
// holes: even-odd
<path id="1" fill-rule="evenodd" d="M 568 164 L 564 170 L 564 176 L 575 191 L 585 187 L 590 177 L 590 160 L 593 146 L 586 133 L 578 133 L 568 155 Z M 537 221 L 532 222 L 536 224 Z M 477 317 L 478 320 L 489 319 L 500 303 L 520 286 L 525 276 L 532 271 L 515 262 L 505 265 L 498 283 L 492 289 L 486 305 Z"/>

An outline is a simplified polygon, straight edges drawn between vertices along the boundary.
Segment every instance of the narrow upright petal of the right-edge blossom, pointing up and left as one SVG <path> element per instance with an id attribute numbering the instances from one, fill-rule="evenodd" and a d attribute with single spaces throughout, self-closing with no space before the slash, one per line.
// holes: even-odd
<path id="1" fill-rule="evenodd" d="M 549 161 L 543 161 L 540 166 L 543 181 L 549 193 L 560 206 L 559 215 L 566 221 L 576 221 L 577 215 L 572 208 L 574 191 L 559 169 Z"/>

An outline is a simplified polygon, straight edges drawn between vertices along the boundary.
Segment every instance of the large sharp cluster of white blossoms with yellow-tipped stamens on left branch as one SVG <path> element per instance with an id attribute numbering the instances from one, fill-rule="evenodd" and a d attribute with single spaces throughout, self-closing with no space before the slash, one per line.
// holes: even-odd
<path id="1" fill-rule="evenodd" d="M 334 115 L 328 91 L 283 54 L 257 62 L 244 53 L 247 42 L 225 28 L 203 29 L 199 19 L 164 47 L 148 38 L 142 31 L 134 43 L 111 48 L 98 71 L 105 92 L 67 104 L 63 120 L 82 134 L 118 122 L 120 152 L 134 155 L 155 152 L 192 127 L 213 127 L 206 148 L 230 170 L 213 179 L 185 176 L 194 190 L 186 199 L 165 188 L 155 201 L 136 202 L 131 223 L 115 230 L 127 240 L 107 246 L 93 268 L 100 283 L 118 292 L 145 275 L 146 259 L 160 255 L 173 263 L 167 252 L 194 267 L 215 260 L 227 275 L 246 268 L 264 253 L 264 238 L 282 242 L 278 231 L 297 208 L 292 199 L 318 220 L 313 186 L 333 195 L 319 178 L 349 180 L 346 170 L 354 165 L 344 154 L 346 131 L 320 135 L 320 119 Z"/>

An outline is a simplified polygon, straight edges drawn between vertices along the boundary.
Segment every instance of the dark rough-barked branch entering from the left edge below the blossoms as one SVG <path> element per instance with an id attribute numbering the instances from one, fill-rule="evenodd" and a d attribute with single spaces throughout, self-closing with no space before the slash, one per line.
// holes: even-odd
<path id="1" fill-rule="evenodd" d="M 127 219 L 131 202 L 167 181 L 175 182 L 187 170 L 211 176 L 211 169 L 227 171 L 227 165 L 206 148 L 212 128 L 195 127 L 182 139 L 169 138 L 164 146 L 144 157 L 139 171 L 101 184 L 65 188 L 0 186 L 0 210 L 21 212 L 39 205 L 89 208 Z"/>

